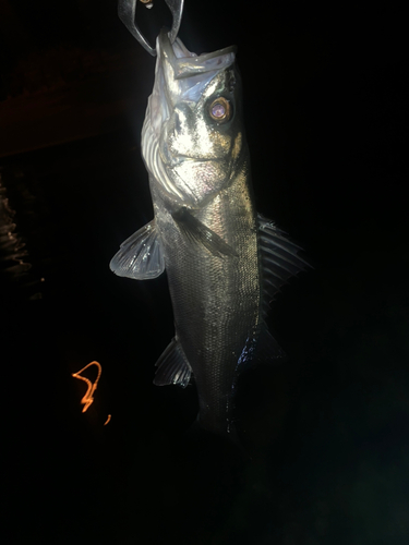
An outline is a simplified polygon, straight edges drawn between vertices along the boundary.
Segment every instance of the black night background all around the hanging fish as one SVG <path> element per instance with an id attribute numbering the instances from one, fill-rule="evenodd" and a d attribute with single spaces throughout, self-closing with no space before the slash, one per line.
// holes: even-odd
<path id="1" fill-rule="evenodd" d="M 137 8 L 152 36 L 158 4 Z M 11 268 L 3 244 L 8 543 L 406 544 L 404 14 L 369 2 L 185 4 L 190 50 L 239 47 L 257 209 L 314 265 L 272 310 L 289 358 L 240 382 L 250 459 L 189 434 L 194 386 L 152 385 L 173 335 L 166 277 L 108 268 L 152 219 L 140 133 L 154 59 L 113 0 L 2 0 L 0 227 L 13 221 L 32 265 Z M 82 413 L 85 386 L 71 374 L 93 360 L 103 374 Z"/>

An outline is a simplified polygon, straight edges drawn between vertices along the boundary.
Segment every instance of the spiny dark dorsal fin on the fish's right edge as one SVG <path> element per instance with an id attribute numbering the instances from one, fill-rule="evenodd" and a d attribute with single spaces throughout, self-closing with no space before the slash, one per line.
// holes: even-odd
<path id="1" fill-rule="evenodd" d="M 262 258 L 263 311 L 266 314 L 269 303 L 280 288 L 288 283 L 288 279 L 311 265 L 298 255 L 302 249 L 291 242 L 272 220 L 258 214 L 257 222 Z"/>

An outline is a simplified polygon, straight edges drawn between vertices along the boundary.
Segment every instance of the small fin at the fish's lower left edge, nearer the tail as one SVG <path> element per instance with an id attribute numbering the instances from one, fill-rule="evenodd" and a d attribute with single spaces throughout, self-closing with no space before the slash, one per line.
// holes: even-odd
<path id="1" fill-rule="evenodd" d="M 176 338 L 170 341 L 155 365 L 158 367 L 154 378 L 156 386 L 168 384 L 179 384 L 182 388 L 188 386 L 192 367 Z"/>

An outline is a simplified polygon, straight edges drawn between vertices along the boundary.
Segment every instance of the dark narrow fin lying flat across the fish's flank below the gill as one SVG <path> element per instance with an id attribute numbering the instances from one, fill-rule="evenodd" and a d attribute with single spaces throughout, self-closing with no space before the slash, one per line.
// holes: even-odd
<path id="1" fill-rule="evenodd" d="M 195 218 L 188 208 L 180 208 L 180 210 L 172 214 L 172 218 L 179 226 L 184 237 L 193 244 L 205 246 L 212 254 L 217 256 L 233 255 L 237 256 L 234 250 L 225 242 L 221 237 L 212 231 L 207 226 L 202 223 Z"/>

